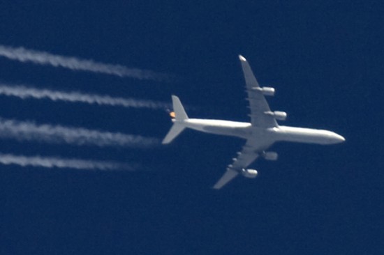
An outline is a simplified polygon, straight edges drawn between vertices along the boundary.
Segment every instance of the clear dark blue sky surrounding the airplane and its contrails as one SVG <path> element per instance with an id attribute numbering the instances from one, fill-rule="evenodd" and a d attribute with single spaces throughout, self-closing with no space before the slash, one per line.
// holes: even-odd
<path id="1" fill-rule="evenodd" d="M 1 254 L 383 254 L 381 1 L 4 1 L 0 44 L 177 75 L 139 81 L 0 59 L 1 81 L 170 102 L 248 121 L 238 54 L 286 125 L 335 146 L 276 144 L 216 192 L 243 141 L 186 130 L 149 150 L 1 141 L 1 153 L 119 160 L 137 172 L 0 167 Z M 0 116 L 161 139 L 165 111 L 0 98 Z"/>

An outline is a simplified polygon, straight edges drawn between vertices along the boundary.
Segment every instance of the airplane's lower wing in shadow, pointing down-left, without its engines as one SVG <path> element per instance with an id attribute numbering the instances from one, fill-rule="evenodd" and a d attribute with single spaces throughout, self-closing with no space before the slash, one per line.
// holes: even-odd
<path id="1" fill-rule="evenodd" d="M 257 148 L 251 139 L 247 140 L 242 151 L 237 153 L 237 157 L 233 159 L 232 164 L 228 165 L 226 173 L 214 185 L 214 189 L 221 189 L 221 187 L 241 173 L 243 169 L 252 164 L 259 157 L 259 151 L 260 148 Z"/>

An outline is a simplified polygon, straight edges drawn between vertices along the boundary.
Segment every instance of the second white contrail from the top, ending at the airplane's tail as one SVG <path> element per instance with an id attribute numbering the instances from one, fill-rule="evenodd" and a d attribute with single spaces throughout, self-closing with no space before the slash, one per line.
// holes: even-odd
<path id="1" fill-rule="evenodd" d="M 96 105 L 110 105 L 133 108 L 169 109 L 170 105 L 152 100 L 136 100 L 133 98 L 112 98 L 109 95 L 85 94 L 77 91 L 52 91 L 22 85 L 0 83 L 0 95 L 14 96 L 21 99 L 49 99 L 52 101 L 83 102 Z"/>

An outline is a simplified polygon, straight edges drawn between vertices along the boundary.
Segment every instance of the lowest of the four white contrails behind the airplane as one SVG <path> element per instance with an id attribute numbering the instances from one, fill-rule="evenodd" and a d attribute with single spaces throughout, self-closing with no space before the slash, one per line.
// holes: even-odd
<path id="1" fill-rule="evenodd" d="M 94 160 L 64 159 L 61 157 L 19 156 L 0 153 L 0 164 L 17 164 L 21 167 L 71 168 L 82 170 L 128 170 L 135 167 L 118 162 L 103 162 Z"/>

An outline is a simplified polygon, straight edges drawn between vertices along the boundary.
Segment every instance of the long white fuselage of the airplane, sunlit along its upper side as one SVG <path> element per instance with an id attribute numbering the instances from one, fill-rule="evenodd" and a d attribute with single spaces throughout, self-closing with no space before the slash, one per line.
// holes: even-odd
<path id="1" fill-rule="evenodd" d="M 302 127 L 279 125 L 271 128 L 252 127 L 251 123 L 237 121 L 221 121 L 200 118 L 188 118 L 183 121 L 172 120 L 184 127 L 211 134 L 221 134 L 243 139 L 253 138 L 256 141 L 273 144 L 276 141 L 292 141 L 306 144 L 338 144 L 344 137 L 328 130 L 316 130 Z"/>

